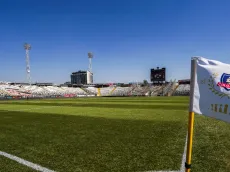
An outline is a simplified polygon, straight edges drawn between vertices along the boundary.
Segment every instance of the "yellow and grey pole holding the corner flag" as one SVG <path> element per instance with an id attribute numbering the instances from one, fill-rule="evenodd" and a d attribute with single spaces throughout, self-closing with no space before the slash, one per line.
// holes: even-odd
<path id="1" fill-rule="evenodd" d="M 185 162 L 185 172 L 191 171 L 192 162 L 192 141 L 193 141 L 193 129 L 194 129 L 194 112 L 193 112 L 193 98 L 194 87 L 196 77 L 196 58 L 191 60 L 191 74 L 190 74 L 190 103 L 189 103 L 189 119 L 188 119 L 188 142 L 187 142 L 187 154 Z"/>

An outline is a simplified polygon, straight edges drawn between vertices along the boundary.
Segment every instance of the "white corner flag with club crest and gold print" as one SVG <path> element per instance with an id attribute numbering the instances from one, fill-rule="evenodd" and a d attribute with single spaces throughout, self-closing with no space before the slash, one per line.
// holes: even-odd
<path id="1" fill-rule="evenodd" d="M 202 57 L 193 60 L 195 76 L 190 111 L 230 123 L 230 64 Z"/>

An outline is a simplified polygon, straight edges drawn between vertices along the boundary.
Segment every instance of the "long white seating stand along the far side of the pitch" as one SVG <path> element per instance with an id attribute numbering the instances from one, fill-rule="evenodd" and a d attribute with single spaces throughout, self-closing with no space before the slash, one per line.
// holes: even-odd
<path id="1" fill-rule="evenodd" d="M 49 98 L 49 97 L 85 97 L 85 96 L 188 96 L 190 84 L 171 81 L 167 85 L 128 85 L 97 88 L 94 86 L 39 86 L 20 85 L 0 82 L 0 98 Z"/>

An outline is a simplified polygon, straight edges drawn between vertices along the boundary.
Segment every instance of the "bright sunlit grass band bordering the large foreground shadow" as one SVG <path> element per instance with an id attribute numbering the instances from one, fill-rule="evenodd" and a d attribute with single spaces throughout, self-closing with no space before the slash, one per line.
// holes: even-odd
<path id="1" fill-rule="evenodd" d="M 13 106 L 13 105 L 12 105 Z M 30 106 L 29 106 L 30 107 Z M 103 117 L 114 119 L 132 119 L 132 120 L 166 120 L 166 121 L 181 121 L 183 118 L 187 120 L 186 110 L 162 110 L 155 109 L 120 109 L 120 108 L 95 108 L 95 107 L 60 107 L 58 106 L 36 106 L 34 108 L 24 109 L 18 108 L 17 111 L 30 111 L 35 113 L 45 114 L 60 114 L 60 115 L 76 115 L 76 116 L 90 116 Z M 1 110 L 2 113 L 4 110 Z M 10 112 L 11 110 L 5 110 Z M 12 110 L 12 113 L 15 110 Z"/>

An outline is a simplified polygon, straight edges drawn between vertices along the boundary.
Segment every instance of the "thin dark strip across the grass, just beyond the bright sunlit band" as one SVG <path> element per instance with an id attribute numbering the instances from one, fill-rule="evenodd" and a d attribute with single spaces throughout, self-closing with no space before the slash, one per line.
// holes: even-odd
<path id="1" fill-rule="evenodd" d="M 97 108 L 122 108 L 122 109 L 171 109 L 171 110 L 187 110 L 188 104 L 108 104 L 108 103 L 90 103 L 90 102 L 76 102 L 76 103 L 55 103 L 55 102 L 0 102 L 0 104 L 13 104 L 13 105 L 38 105 L 38 106 L 68 106 L 68 107 L 97 107 Z"/>

